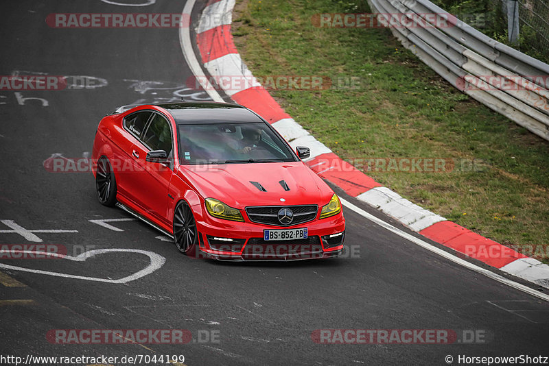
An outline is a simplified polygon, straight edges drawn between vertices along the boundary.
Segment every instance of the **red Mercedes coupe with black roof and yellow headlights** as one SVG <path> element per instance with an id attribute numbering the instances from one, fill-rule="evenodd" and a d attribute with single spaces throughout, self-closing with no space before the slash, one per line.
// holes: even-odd
<path id="1" fill-rule="evenodd" d="M 231 103 L 124 106 L 97 127 L 97 197 L 218 260 L 338 256 L 338 196 L 255 112 Z"/>

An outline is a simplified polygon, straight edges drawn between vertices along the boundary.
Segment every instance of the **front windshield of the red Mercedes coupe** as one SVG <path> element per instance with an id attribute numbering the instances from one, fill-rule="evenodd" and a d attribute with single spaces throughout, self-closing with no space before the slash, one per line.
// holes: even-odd
<path id="1" fill-rule="evenodd" d="M 182 164 L 296 161 L 286 143 L 265 123 L 179 125 Z"/>

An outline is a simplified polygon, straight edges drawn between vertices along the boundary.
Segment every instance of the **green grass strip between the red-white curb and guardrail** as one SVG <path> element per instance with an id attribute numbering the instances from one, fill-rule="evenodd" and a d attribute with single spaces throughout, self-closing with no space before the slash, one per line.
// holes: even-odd
<path id="1" fill-rule="evenodd" d="M 478 159 L 477 171 L 365 173 L 500 243 L 549 245 L 549 143 L 449 86 L 388 29 L 311 21 L 369 11 L 365 1 L 237 1 L 233 35 L 255 75 L 359 78 L 360 88 L 271 91 L 344 160 Z"/>

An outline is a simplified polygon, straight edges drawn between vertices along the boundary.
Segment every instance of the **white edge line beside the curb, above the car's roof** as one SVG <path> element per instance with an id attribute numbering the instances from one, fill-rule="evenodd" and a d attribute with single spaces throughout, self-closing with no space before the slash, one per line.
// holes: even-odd
<path id="1" fill-rule="evenodd" d="M 189 68 L 191 69 L 193 75 L 200 76 L 204 75 L 204 71 L 202 71 L 202 68 L 200 67 L 200 64 L 198 64 L 198 60 L 196 59 L 196 55 L 194 54 L 194 50 L 191 43 L 191 12 L 194 8 L 194 3 L 196 3 L 196 0 L 187 0 L 185 3 L 185 8 L 183 8 L 183 21 L 187 19 L 188 23 L 187 25 L 183 25 L 179 28 L 179 42 L 181 45 L 181 51 L 183 51 L 183 56 L 185 56 L 185 60 L 187 61 L 187 65 L 189 65 Z M 185 17 L 187 16 L 187 17 Z M 208 93 L 208 95 L 213 99 L 213 101 L 224 101 L 223 98 L 219 95 L 217 91 L 213 88 L 213 86 L 210 84 L 206 77 L 198 77 L 198 80 L 202 84 L 202 87 Z"/>

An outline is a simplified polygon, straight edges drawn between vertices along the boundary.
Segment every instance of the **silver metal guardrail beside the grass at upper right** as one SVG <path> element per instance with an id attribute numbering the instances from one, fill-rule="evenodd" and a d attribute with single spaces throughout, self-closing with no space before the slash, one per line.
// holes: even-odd
<path id="1" fill-rule="evenodd" d="M 392 24 L 404 47 L 447 82 L 549 141 L 548 64 L 489 38 L 428 0 L 368 3 L 380 20 Z M 410 22 L 395 26 L 390 14 Z M 428 26 L 414 23 L 420 17 Z"/>

